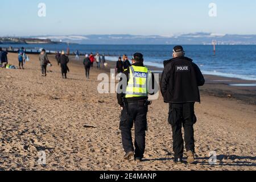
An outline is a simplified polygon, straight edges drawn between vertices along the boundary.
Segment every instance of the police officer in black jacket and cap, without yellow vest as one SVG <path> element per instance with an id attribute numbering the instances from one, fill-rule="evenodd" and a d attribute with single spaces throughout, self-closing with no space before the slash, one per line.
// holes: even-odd
<path id="1" fill-rule="evenodd" d="M 169 103 L 168 122 L 172 126 L 174 162 L 182 163 L 184 140 L 187 162 L 195 162 L 195 139 L 193 125 L 196 123 L 195 102 L 200 102 L 199 86 L 204 85 L 204 76 L 192 59 L 185 57 L 183 47 L 173 49 L 173 59 L 164 61 L 160 89 L 164 102 Z"/>

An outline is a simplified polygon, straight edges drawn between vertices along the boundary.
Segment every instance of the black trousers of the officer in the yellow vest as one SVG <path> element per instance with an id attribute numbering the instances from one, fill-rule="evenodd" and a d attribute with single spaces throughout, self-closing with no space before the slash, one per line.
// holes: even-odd
<path id="1" fill-rule="evenodd" d="M 147 130 L 147 110 L 144 100 L 129 102 L 127 107 L 124 106 L 121 114 L 120 130 L 122 134 L 122 143 L 125 152 L 134 151 L 135 158 L 143 158 L 146 147 L 146 130 Z M 130 112 L 130 113 L 129 113 Z M 131 129 L 135 127 L 135 150 Z"/>

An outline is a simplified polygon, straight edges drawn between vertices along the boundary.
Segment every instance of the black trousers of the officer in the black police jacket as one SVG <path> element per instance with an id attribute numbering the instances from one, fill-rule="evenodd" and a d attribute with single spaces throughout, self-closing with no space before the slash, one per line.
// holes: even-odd
<path id="1" fill-rule="evenodd" d="M 195 103 L 170 104 L 168 122 L 172 125 L 172 139 L 175 158 L 183 158 L 184 140 L 187 151 L 195 152 L 193 125 L 196 123 Z M 184 127 L 184 140 L 182 136 Z"/>

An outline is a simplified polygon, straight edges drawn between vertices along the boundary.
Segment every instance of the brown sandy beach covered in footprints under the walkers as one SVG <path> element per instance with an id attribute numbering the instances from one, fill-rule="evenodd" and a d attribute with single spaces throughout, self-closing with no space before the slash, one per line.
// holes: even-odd
<path id="1" fill-rule="evenodd" d="M 0 69 L 0 170 L 256 170 L 255 87 L 231 87 L 233 78 L 205 76 L 196 104 L 196 164 L 172 160 L 168 105 L 153 101 L 148 112 L 142 163 L 123 162 L 119 106 L 115 94 L 98 94 L 98 71 L 85 79 L 81 62 L 71 61 L 61 77 L 53 55 L 47 77 L 38 55 L 20 69 Z M 17 65 L 17 55 L 9 54 Z M 220 81 L 222 80 L 222 81 Z M 46 152 L 46 165 L 38 163 Z M 209 152 L 217 164 L 209 164 Z M 185 156 L 185 155 L 184 155 Z"/>

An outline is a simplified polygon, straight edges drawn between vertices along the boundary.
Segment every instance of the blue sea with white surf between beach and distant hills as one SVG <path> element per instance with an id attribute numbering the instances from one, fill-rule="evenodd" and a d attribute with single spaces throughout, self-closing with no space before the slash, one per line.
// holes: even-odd
<path id="1" fill-rule="evenodd" d="M 12 45 L 14 48 L 25 47 L 27 49 L 46 48 L 51 51 L 66 50 L 67 44 L 35 44 Z M 1 45 L 9 47 L 9 45 Z M 171 58 L 174 46 L 150 46 L 150 45 L 79 45 L 70 44 L 71 52 L 78 49 L 81 53 L 105 53 L 113 55 L 109 60 L 117 60 L 119 55 L 126 54 L 131 58 L 135 52 L 141 52 L 147 65 L 163 68 L 163 60 Z M 216 55 L 213 46 L 184 46 L 186 56 L 191 57 L 199 65 L 205 74 L 225 77 L 236 77 L 244 80 L 256 80 L 256 46 L 217 46 Z"/>

